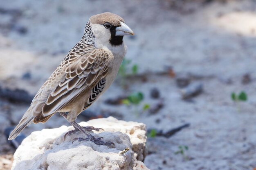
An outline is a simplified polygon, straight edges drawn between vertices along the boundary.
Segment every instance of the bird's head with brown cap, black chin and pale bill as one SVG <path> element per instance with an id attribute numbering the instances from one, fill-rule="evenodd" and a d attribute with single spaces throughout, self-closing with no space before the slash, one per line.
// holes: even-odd
<path id="1" fill-rule="evenodd" d="M 134 35 L 124 19 L 114 13 L 93 15 L 89 21 L 97 44 L 119 46 L 123 44 L 124 35 Z"/>

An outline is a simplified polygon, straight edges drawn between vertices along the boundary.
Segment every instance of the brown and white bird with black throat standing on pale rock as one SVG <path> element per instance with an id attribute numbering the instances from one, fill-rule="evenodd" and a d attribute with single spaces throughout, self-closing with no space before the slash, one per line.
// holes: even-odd
<path id="1" fill-rule="evenodd" d="M 76 118 L 115 80 L 127 51 L 123 39 L 126 35 L 134 33 L 119 15 L 105 12 L 90 17 L 81 40 L 40 87 L 8 139 L 14 139 L 29 124 L 45 123 L 59 113 L 74 126 L 74 130 L 65 136 L 81 131 L 85 137 L 74 140 L 92 141 L 97 145 L 113 144 L 91 135 L 88 131 L 99 131 L 99 128 L 80 126 Z"/>

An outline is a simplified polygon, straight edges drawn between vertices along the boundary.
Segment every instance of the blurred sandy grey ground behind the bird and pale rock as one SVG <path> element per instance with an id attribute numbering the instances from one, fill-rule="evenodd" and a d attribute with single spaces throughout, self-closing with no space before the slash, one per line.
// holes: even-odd
<path id="1" fill-rule="evenodd" d="M 255 170 L 255 0 L 0 0 L 0 169 L 16 126 L 81 39 L 89 17 L 112 12 L 125 37 L 118 77 L 78 122 L 113 116 L 148 128 L 152 170 Z M 69 126 L 58 114 L 22 133 Z"/>

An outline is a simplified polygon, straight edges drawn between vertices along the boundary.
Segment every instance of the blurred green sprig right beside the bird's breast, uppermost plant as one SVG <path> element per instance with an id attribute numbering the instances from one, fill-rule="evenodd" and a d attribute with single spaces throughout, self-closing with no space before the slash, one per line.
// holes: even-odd
<path id="1" fill-rule="evenodd" d="M 126 87 L 126 78 L 130 75 L 135 75 L 138 72 L 138 65 L 132 65 L 130 67 L 131 60 L 124 59 L 118 71 L 118 75 L 121 77 L 121 85 Z"/>

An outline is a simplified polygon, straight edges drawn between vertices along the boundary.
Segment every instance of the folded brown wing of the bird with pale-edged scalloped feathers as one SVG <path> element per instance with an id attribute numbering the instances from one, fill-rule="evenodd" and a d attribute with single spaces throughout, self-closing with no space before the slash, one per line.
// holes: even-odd
<path id="1" fill-rule="evenodd" d="M 42 109 L 43 116 L 58 112 L 97 85 L 108 72 L 108 55 L 103 49 L 95 49 L 65 68 L 65 78 L 47 98 Z"/>

